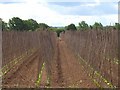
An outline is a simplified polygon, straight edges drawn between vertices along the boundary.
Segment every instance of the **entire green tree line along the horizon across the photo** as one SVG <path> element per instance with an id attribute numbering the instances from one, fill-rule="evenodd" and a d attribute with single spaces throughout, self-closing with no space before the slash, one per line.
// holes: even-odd
<path id="1" fill-rule="evenodd" d="M 37 30 L 52 30 L 57 33 L 57 36 L 60 35 L 61 32 L 65 32 L 65 30 L 90 30 L 90 29 L 116 29 L 120 30 L 120 24 L 115 23 L 115 25 L 111 26 L 103 26 L 100 22 L 95 22 L 93 25 L 88 25 L 85 21 L 81 21 L 78 23 L 78 26 L 75 26 L 75 24 L 70 24 L 65 27 L 52 27 L 45 23 L 38 23 L 34 19 L 28 19 L 28 20 L 22 20 L 19 17 L 13 17 L 9 19 L 8 23 L 2 21 L 2 31 L 37 31 Z"/>

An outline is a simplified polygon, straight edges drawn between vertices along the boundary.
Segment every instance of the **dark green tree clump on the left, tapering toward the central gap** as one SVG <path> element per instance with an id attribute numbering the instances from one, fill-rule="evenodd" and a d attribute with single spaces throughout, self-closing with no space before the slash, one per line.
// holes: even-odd
<path id="1" fill-rule="evenodd" d="M 2 30 L 15 31 L 35 31 L 37 28 L 47 29 L 49 26 L 45 23 L 37 23 L 34 19 L 22 20 L 19 17 L 13 17 L 6 23 L 2 21 Z"/>

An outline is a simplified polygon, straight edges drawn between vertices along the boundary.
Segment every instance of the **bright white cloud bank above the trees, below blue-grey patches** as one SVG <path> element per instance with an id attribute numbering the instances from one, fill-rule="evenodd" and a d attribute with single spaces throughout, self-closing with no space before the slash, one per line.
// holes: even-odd
<path id="1" fill-rule="evenodd" d="M 34 3 L 29 1 L 24 0 L 25 3 L 0 4 L 0 17 L 6 22 L 12 17 L 20 17 L 21 19 L 33 18 L 39 23 L 43 22 L 50 26 L 66 26 L 70 23 L 78 25 L 78 23 L 83 20 L 88 24 L 94 24 L 95 21 L 103 24 L 110 24 L 118 21 L 117 15 L 62 15 L 51 10 L 46 2 L 38 4 L 38 0 L 35 0 Z"/>

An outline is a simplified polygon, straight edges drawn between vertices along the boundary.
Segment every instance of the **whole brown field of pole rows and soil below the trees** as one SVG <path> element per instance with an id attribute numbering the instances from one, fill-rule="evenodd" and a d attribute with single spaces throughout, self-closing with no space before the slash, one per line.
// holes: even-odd
<path id="1" fill-rule="evenodd" d="M 117 88 L 117 30 L 2 32 L 3 88 Z"/>

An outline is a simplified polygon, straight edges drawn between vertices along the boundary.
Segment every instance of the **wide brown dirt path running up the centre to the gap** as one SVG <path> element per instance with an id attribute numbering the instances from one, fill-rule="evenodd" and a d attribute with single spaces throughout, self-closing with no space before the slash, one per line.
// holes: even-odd
<path id="1" fill-rule="evenodd" d="M 96 85 L 87 76 L 73 53 L 67 48 L 63 40 L 58 40 L 58 58 L 56 59 L 57 87 L 95 88 Z M 52 87 L 56 86 L 55 82 Z"/>

